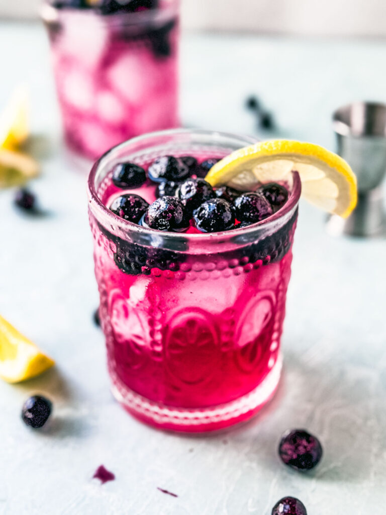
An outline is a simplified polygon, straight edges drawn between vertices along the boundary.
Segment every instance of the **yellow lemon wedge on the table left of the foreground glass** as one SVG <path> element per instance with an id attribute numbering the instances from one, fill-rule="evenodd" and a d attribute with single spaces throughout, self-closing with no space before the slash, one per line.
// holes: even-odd
<path id="1" fill-rule="evenodd" d="M 19 383 L 55 365 L 25 336 L 0 316 L 0 377 Z"/>

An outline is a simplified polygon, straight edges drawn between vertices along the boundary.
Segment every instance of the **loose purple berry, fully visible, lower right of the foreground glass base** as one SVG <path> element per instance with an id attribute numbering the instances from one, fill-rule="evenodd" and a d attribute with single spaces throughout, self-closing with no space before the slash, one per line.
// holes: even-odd
<path id="1" fill-rule="evenodd" d="M 287 432 L 280 440 L 278 452 L 283 463 L 299 471 L 313 469 L 323 454 L 318 438 L 303 429 Z"/>

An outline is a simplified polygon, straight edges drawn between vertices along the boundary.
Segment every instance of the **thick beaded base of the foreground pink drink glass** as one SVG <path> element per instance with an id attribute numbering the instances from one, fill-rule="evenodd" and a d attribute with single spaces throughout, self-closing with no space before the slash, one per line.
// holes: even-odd
<path id="1" fill-rule="evenodd" d="M 183 409 L 145 399 L 127 388 L 113 370 L 109 370 L 112 392 L 131 415 L 147 424 L 171 431 L 200 433 L 217 431 L 250 419 L 272 399 L 280 380 L 283 359 L 279 354 L 264 381 L 235 401 L 208 408 Z"/>

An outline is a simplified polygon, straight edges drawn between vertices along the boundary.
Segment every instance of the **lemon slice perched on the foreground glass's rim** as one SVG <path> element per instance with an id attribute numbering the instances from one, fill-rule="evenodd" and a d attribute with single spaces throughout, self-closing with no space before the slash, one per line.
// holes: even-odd
<path id="1" fill-rule="evenodd" d="M 357 203 L 357 180 L 341 157 L 319 145 L 271 140 L 240 148 L 210 168 L 212 186 L 253 191 L 260 183 L 286 181 L 296 170 L 302 197 L 318 208 L 346 218 Z"/>

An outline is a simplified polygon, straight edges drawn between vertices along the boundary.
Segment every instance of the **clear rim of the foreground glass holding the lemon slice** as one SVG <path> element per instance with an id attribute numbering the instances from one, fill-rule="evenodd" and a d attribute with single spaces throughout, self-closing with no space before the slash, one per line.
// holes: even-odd
<path id="1" fill-rule="evenodd" d="M 128 220 L 125 220 L 124 218 L 119 217 L 118 215 L 114 214 L 112 211 L 108 209 L 106 205 L 103 204 L 103 202 L 100 200 L 96 187 L 95 187 L 95 179 L 97 177 L 97 173 L 100 168 L 104 167 L 114 156 L 114 153 L 117 150 L 121 150 L 128 146 L 129 144 L 135 144 L 135 143 L 141 143 L 145 142 L 147 139 L 150 138 L 156 138 L 159 136 L 160 138 L 162 136 L 173 136 L 173 135 L 183 135 L 183 134 L 197 134 L 199 136 L 212 136 L 217 138 L 229 138 L 229 139 L 237 139 L 239 141 L 243 141 L 245 143 L 244 146 L 251 145 L 253 143 L 256 143 L 256 139 L 251 138 L 251 136 L 246 135 L 238 135 L 234 133 L 229 132 L 222 132 L 222 131 L 213 131 L 213 130 L 206 130 L 206 129 L 168 129 L 168 130 L 162 130 L 162 131 L 155 131 L 155 132 L 148 132 L 146 134 L 142 134 L 140 136 L 136 136 L 135 138 L 131 138 L 130 140 L 124 141 L 120 143 L 119 145 L 114 146 L 107 152 L 105 152 L 92 166 L 89 178 L 87 180 L 87 194 L 89 197 L 89 208 L 91 210 L 96 209 L 99 211 L 103 218 L 106 219 L 106 221 L 109 222 L 109 225 L 114 225 L 116 227 L 119 227 L 119 229 L 123 233 L 137 233 L 138 236 L 149 236 L 150 238 L 155 235 L 162 235 L 163 239 L 165 241 L 190 241 L 195 243 L 201 243 L 201 242 L 211 242 L 214 243 L 215 241 L 223 241 L 224 237 L 226 238 L 232 238 L 233 236 L 245 236 L 245 235 L 252 235 L 255 232 L 259 233 L 261 230 L 270 230 L 271 228 L 275 228 L 277 225 L 277 222 L 280 220 L 283 220 L 285 218 L 290 218 L 293 213 L 295 212 L 297 208 L 297 204 L 300 200 L 302 185 L 301 180 L 299 177 L 299 174 L 297 171 L 292 171 L 292 178 L 293 178 L 293 184 L 292 189 L 290 192 L 290 195 L 288 197 L 287 202 L 283 206 L 283 208 L 279 209 L 276 213 L 271 215 L 269 218 L 265 220 L 261 220 L 259 222 L 256 222 L 256 224 L 252 224 L 250 226 L 242 227 L 242 228 L 235 228 L 228 231 L 220 231 L 220 232 L 202 232 L 200 234 L 198 233 L 185 233 L 185 232 L 169 232 L 169 231 L 159 231 L 156 229 L 150 229 L 147 227 L 139 226 L 137 224 L 134 224 L 133 222 L 130 222 Z M 240 147 L 242 148 L 242 147 Z"/>

